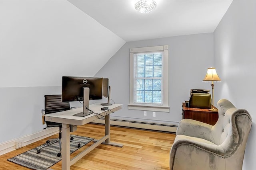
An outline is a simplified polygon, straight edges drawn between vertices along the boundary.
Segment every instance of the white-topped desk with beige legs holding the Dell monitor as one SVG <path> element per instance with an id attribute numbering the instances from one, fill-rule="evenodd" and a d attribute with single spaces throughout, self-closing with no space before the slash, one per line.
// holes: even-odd
<path id="1" fill-rule="evenodd" d="M 83 108 L 76 108 L 67 111 L 60 111 L 56 113 L 50 113 L 45 115 L 46 121 L 62 123 L 62 141 L 61 141 L 61 155 L 62 155 L 62 170 L 70 170 L 70 166 L 77 162 L 80 158 L 88 154 L 91 150 L 96 148 L 101 143 L 112 145 L 116 147 L 123 147 L 121 144 L 110 142 L 110 115 L 106 114 L 108 111 L 102 111 L 100 104 L 92 104 L 89 106 L 89 109 L 98 113 L 102 116 L 105 116 L 105 136 L 99 140 L 94 140 L 94 144 L 88 147 L 86 150 L 82 151 L 80 154 L 76 155 L 70 160 L 70 126 L 71 125 L 85 125 L 90 123 L 98 117 L 92 113 L 85 117 L 73 116 L 76 113 L 82 112 Z M 112 111 L 118 111 L 122 108 L 122 104 L 112 104 L 108 106 Z M 109 111 L 111 113 L 111 111 Z M 98 115 L 100 117 L 100 115 Z"/>

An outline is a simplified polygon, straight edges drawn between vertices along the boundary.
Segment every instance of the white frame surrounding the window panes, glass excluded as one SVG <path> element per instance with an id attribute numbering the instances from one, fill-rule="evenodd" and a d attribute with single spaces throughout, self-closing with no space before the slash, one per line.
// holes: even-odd
<path id="1" fill-rule="evenodd" d="M 136 104 L 134 103 L 134 54 L 137 53 L 163 53 L 163 75 L 162 75 L 162 105 L 159 104 Z M 130 48 L 130 101 L 128 104 L 128 109 L 134 110 L 146 110 L 146 111 L 162 111 L 170 112 L 169 107 L 169 93 L 168 93 L 168 45 L 153 46 L 153 47 L 140 47 L 140 48 Z"/>

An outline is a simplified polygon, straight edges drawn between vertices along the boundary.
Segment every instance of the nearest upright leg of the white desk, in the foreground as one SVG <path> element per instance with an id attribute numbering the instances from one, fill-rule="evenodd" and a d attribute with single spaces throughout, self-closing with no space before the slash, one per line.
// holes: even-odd
<path id="1" fill-rule="evenodd" d="M 62 124 L 61 134 L 62 170 L 70 170 L 70 127 L 68 124 Z"/>

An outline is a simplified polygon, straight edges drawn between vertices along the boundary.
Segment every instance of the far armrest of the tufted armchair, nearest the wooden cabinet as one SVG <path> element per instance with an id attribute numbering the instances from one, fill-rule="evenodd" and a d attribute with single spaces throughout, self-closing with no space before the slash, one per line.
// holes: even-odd
<path id="1" fill-rule="evenodd" d="M 198 137 L 212 142 L 212 125 L 192 119 L 182 119 L 178 125 L 176 135 Z"/>

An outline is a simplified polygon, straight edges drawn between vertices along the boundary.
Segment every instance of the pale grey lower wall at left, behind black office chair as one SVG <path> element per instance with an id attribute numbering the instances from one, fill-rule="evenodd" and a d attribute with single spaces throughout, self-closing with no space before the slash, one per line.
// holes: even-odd
<path id="1" fill-rule="evenodd" d="M 42 131 L 45 94 L 61 94 L 61 86 L 0 88 L 0 143 Z"/>

